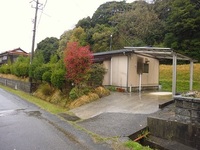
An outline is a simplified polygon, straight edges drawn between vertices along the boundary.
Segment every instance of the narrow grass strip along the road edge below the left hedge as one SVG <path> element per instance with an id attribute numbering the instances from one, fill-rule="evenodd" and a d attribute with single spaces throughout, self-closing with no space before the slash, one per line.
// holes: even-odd
<path id="1" fill-rule="evenodd" d="M 46 102 L 44 100 L 41 100 L 39 98 L 36 98 L 35 96 L 32 96 L 31 94 L 28 94 L 28 93 L 25 93 L 23 91 L 18 91 L 18 90 L 14 90 L 14 89 L 11 89 L 9 87 L 5 87 L 3 85 L 0 85 L 0 88 L 10 92 L 10 93 L 13 93 L 17 96 L 19 96 L 20 98 L 26 100 L 26 101 L 29 101 L 35 105 L 37 105 L 38 107 L 40 107 L 41 109 L 44 109 L 52 114 L 58 114 L 58 113 L 63 113 L 63 112 L 66 112 L 67 109 L 66 108 L 63 108 L 63 107 L 60 107 L 60 106 L 56 106 L 54 104 L 51 104 L 49 102 Z"/>

